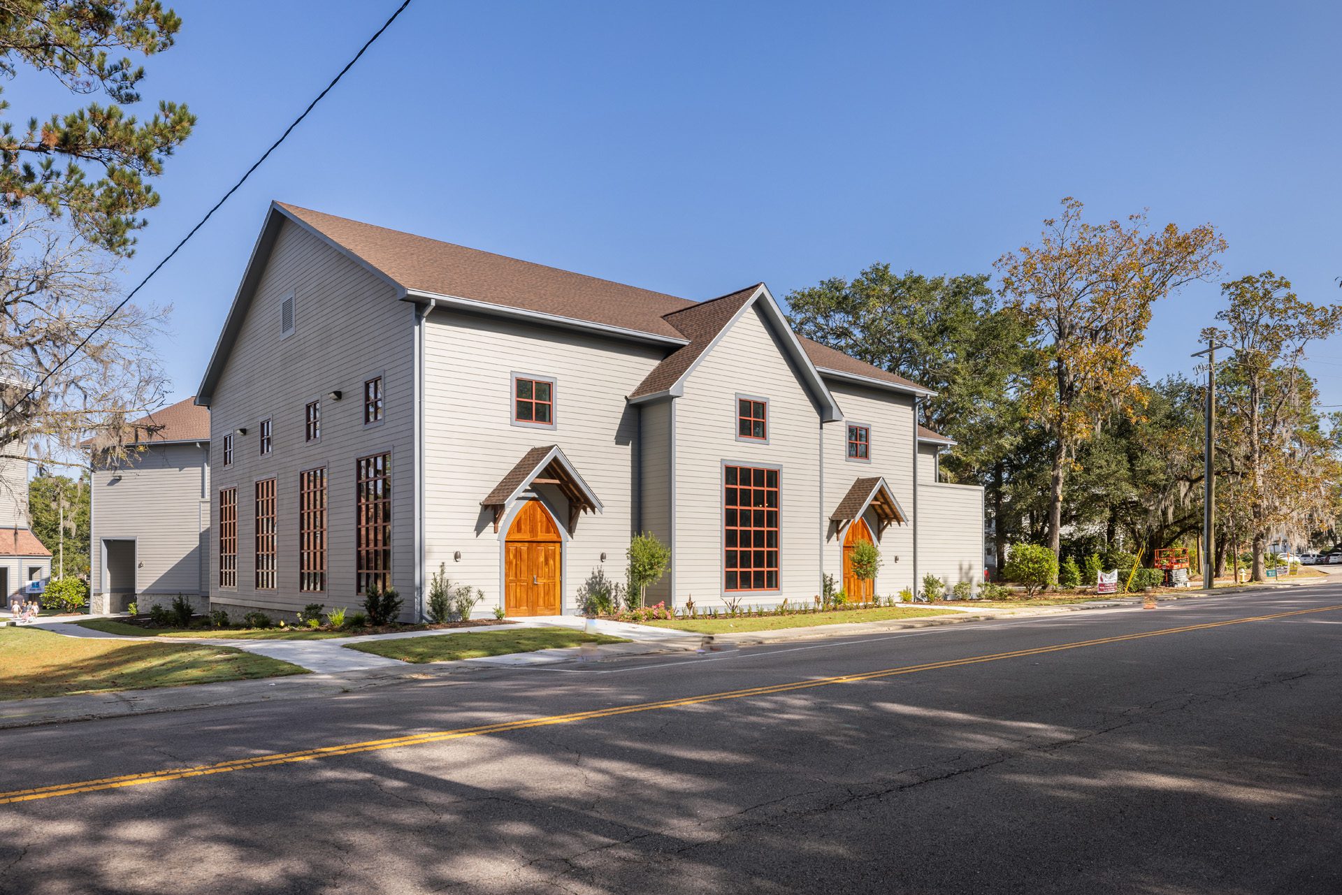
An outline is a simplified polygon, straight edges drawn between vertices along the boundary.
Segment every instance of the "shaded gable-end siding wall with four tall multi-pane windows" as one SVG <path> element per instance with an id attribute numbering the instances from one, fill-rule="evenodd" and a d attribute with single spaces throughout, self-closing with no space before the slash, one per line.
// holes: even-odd
<path id="1" fill-rule="evenodd" d="M 280 302 L 294 293 L 295 327 L 280 338 Z M 392 584 L 415 604 L 415 309 L 391 284 L 286 221 L 260 278 L 211 407 L 212 525 L 209 590 L 223 607 L 295 612 L 307 602 L 358 607 L 356 462 L 392 455 Z M 384 420 L 364 425 L 364 381 L 382 376 Z M 342 399 L 326 396 L 340 390 Z M 321 439 L 305 440 L 305 408 L 322 403 Z M 272 447 L 259 455 L 258 423 L 271 417 Z M 224 435 L 234 463 L 223 464 Z M 327 578 L 323 593 L 298 589 L 298 475 L 327 470 Z M 255 482 L 276 480 L 276 588 L 255 582 Z M 219 490 L 238 488 L 238 586 L 219 586 Z"/>

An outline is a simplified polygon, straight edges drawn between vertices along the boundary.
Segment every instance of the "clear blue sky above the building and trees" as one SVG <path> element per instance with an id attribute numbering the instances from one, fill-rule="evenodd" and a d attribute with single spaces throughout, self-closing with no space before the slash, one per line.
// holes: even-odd
<path id="1" fill-rule="evenodd" d="M 200 122 L 169 161 L 152 266 L 395 3 L 181 0 L 145 94 Z M 1063 196 L 1094 219 L 1215 223 L 1225 276 L 1342 301 L 1342 4 L 415 0 L 154 280 L 174 394 L 199 384 L 280 199 L 687 298 L 780 298 L 883 260 L 988 271 Z M 17 117 L 59 93 L 7 90 Z M 55 105 L 52 105 L 55 103 Z M 35 107 L 30 107 L 35 106 Z M 1138 360 L 1190 372 L 1197 284 Z M 1342 338 L 1311 372 L 1342 404 Z"/>

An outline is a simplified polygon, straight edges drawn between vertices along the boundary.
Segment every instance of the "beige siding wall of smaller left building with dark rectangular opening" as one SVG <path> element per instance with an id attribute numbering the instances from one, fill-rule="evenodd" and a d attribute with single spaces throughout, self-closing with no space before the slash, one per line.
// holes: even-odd
<path id="1" fill-rule="evenodd" d="M 95 594 L 106 593 L 109 584 L 102 543 L 121 538 L 136 541 L 138 593 L 208 593 L 208 586 L 203 589 L 209 550 L 207 455 L 204 443 L 156 444 L 115 468 L 94 470 L 90 580 Z"/>

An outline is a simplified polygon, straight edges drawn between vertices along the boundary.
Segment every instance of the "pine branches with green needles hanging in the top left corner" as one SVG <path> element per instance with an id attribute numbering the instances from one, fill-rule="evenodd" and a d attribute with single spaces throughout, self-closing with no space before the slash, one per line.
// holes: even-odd
<path id="1" fill-rule="evenodd" d="M 140 216 L 158 204 L 148 178 L 196 122 L 185 105 L 160 102 L 146 121 L 122 107 L 140 102 L 142 66 L 173 44 L 181 19 L 157 0 L 8 0 L 0 8 L 0 75 L 20 66 L 52 75 L 75 94 L 106 94 L 111 102 L 31 118 L 21 131 L 0 119 L 0 208 L 36 203 L 52 217 L 70 216 L 90 243 L 130 255 Z M 118 105 L 119 103 L 119 105 Z M 0 101 L 0 113 L 8 109 Z M 86 166 L 98 173 L 89 176 Z"/>

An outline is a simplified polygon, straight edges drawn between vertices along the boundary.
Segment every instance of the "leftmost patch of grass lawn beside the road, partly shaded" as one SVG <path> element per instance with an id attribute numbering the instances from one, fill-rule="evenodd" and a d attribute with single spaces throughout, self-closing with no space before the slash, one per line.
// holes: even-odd
<path id="1" fill-rule="evenodd" d="M 0 628 L 0 700 L 306 674 L 229 647 L 118 643 Z"/>

